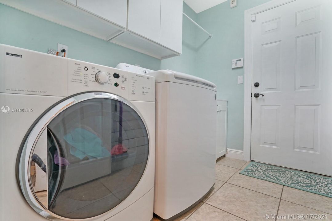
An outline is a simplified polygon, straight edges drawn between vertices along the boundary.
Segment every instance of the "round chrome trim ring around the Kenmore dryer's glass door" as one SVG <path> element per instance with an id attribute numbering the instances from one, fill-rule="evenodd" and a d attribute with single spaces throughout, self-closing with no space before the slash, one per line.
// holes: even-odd
<path id="1" fill-rule="evenodd" d="M 62 113 L 64 110 L 68 109 L 69 107 L 82 102 L 86 100 L 91 100 L 95 98 L 108 98 L 112 100 L 119 101 L 121 103 L 124 103 L 125 105 L 129 106 L 131 109 L 136 112 L 136 114 L 139 116 L 140 120 L 143 122 L 144 127 L 146 129 L 146 134 L 147 134 L 147 140 L 148 140 L 148 149 L 149 143 L 150 143 L 150 138 L 149 138 L 149 132 L 148 128 L 146 126 L 146 123 L 140 114 L 140 112 L 135 108 L 135 106 L 130 103 L 128 100 L 114 95 L 110 93 L 105 93 L 105 92 L 87 92 L 87 93 L 82 93 L 78 95 L 74 95 L 73 97 L 69 97 L 68 99 L 63 100 L 59 104 L 55 105 L 53 108 L 51 108 L 47 113 L 45 113 L 41 119 L 37 122 L 37 124 L 33 127 L 33 129 L 30 131 L 29 136 L 26 138 L 24 141 L 24 146 L 21 152 L 20 156 L 20 163 L 19 163 L 19 168 L 18 168 L 18 175 L 19 175 L 19 181 L 20 181 L 20 187 L 22 189 L 22 193 L 25 196 L 26 200 L 30 204 L 30 206 L 33 207 L 33 209 L 38 212 L 40 215 L 43 217 L 46 217 L 50 220 L 91 220 L 93 218 L 102 216 L 103 214 L 106 214 L 110 211 L 112 211 L 113 208 L 111 208 L 109 211 L 102 213 L 100 215 L 96 215 L 94 217 L 89 217 L 89 218 L 79 218 L 79 219 L 72 219 L 72 218 L 66 218 L 59 216 L 52 211 L 49 210 L 48 204 L 45 202 L 41 202 L 41 200 L 37 197 L 33 185 L 32 185 L 32 180 L 31 180 L 31 162 L 32 162 L 32 157 L 34 156 L 34 151 L 36 148 L 36 145 L 38 145 L 38 141 L 41 138 L 41 136 L 44 136 L 45 132 L 47 132 L 47 126 L 51 123 L 51 121 L 56 118 L 60 113 Z M 149 158 L 149 153 L 148 151 L 148 156 L 147 159 Z M 44 153 L 43 153 L 44 154 Z M 46 153 L 47 154 L 47 153 Z M 43 155 L 41 158 L 47 158 L 47 156 Z M 45 166 L 47 168 L 47 163 L 45 162 Z M 146 165 L 145 165 L 146 166 Z M 142 169 L 145 171 L 145 167 Z M 45 172 L 45 171 L 44 171 Z M 48 171 L 46 169 L 46 183 L 48 179 Z M 142 172 L 143 174 L 143 172 Z M 139 181 L 138 181 L 139 182 Z M 137 184 L 136 184 L 137 185 Z M 48 187 L 48 185 L 47 185 Z M 47 190 L 48 194 L 48 190 Z M 130 194 L 130 193 L 129 193 Z M 48 195 L 47 195 L 48 199 Z"/>

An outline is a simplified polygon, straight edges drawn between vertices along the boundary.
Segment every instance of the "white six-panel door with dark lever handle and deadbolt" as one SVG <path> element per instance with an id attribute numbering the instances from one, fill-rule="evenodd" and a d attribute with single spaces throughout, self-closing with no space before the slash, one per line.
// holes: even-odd
<path id="1" fill-rule="evenodd" d="M 256 14 L 252 160 L 332 175 L 331 2 L 296 0 Z"/>

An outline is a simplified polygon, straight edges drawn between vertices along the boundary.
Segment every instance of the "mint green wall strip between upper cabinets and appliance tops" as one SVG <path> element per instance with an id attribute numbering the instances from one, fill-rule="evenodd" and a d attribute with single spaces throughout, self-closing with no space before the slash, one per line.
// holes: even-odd
<path id="1" fill-rule="evenodd" d="M 115 67 L 118 63 L 160 69 L 161 61 L 0 4 L 0 43 L 47 53 L 68 45 L 68 57 Z"/>

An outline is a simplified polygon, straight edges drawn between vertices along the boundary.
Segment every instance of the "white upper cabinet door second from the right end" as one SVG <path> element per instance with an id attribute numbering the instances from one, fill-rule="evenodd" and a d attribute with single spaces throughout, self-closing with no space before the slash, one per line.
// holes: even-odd
<path id="1" fill-rule="evenodd" d="M 160 42 L 160 0 L 128 0 L 127 29 Z"/>

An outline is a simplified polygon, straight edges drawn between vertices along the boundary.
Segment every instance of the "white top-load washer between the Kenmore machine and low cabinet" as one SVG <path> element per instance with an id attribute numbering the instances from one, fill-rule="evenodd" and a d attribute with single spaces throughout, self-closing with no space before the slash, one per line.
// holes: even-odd
<path id="1" fill-rule="evenodd" d="M 156 82 L 154 213 L 168 220 L 192 208 L 214 185 L 216 85 L 170 70 L 148 74 Z"/>

